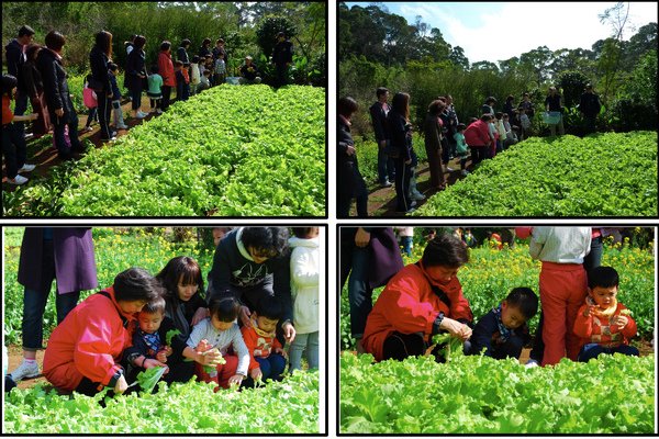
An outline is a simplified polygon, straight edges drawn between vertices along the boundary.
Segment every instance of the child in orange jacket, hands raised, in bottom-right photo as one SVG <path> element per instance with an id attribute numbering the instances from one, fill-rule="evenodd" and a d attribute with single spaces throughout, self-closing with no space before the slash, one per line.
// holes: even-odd
<path id="1" fill-rule="evenodd" d="M 638 349 L 629 346 L 629 339 L 636 335 L 636 322 L 616 300 L 618 283 L 618 273 L 612 267 L 596 267 L 588 273 L 588 296 L 574 322 L 574 334 L 583 345 L 578 361 L 615 352 L 638 357 Z"/>

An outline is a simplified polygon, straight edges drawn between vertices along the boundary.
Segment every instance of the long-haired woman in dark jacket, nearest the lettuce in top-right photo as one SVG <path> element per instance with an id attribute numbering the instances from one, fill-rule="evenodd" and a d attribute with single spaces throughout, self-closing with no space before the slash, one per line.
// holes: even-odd
<path id="1" fill-rule="evenodd" d="M 410 179 L 412 178 L 412 124 L 410 123 L 410 94 L 398 92 L 391 101 L 391 111 L 387 115 L 392 149 L 396 150 L 395 198 L 396 211 L 411 213 L 414 211 L 410 199 Z"/>

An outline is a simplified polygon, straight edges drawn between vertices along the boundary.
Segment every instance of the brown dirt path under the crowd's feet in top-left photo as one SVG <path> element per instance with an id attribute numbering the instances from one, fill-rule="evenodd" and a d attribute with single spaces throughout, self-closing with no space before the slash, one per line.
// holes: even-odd
<path id="1" fill-rule="evenodd" d="M 175 100 L 174 100 L 175 101 Z M 172 102 L 174 103 L 174 102 Z M 141 110 L 143 112 L 149 111 L 149 99 L 147 97 L 142 97 L 142 106 Z M 149 121 L 153 117 L 157 117 L 159 114 L 149 113 L 148 116 L 144 119 L 134 119 L 132 117 L 132 102 L 129 100 L 124 100 L 122 103 L 122 111 L 124 113 L 124 124 L 132 128 L 133 126 L 139 125 L 142 121 Z M 112 123 L 113 116 L 112 113 L 110 115 L 110 122 Z M 91 142 L 96 148 L 101 148 L 104 145 L 112 145 L 113 142 L 101 140 L 101 127 L 98 122 L 92 122 L 91 132 L 82 132 L 85 128 L 85 124 L 87 123 L 87 114 L 78 113 L 78 137 L 80 142 L 89 140 Z M 129 133 L 129 130 L 114 130 L 116 131 L 116 137 L 121 137 Z M 85 153 L 82 153 L 85 154 Z M 80 153 L 74 153 L 74 160 L 78 160 L 80 158 Z M 51 144 L 49 146 L 43 146 L 43 140 L 41 139 L 29 139 L 27 140 L 27 160 L 26 162 L 31 165 L 36 165 L 36 168 L 32 172 L 27 172 L 22 175 L 23 177 L 29 178 L 30 180 L 36 179 L 36 177 L 46 177 L 52 167 L 57 166 L 62 162 L 59 157 L 57 156 L 57 149 Z M 30 185 L 31 182 L 22 184 L 23 187 Z M 16 185 L 9 184 L 7 181 L 7 175 L 4 170 L 4 161 L 2 164 L 2 191 L 13 192 Z"/>

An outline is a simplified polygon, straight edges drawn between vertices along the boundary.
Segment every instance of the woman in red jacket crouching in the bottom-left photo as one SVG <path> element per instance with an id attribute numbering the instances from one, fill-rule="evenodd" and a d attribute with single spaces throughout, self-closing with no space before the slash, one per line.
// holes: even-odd
<path id="1" fill-rule="evenodd" d="M 63 391 L 94 395 L 104 386 L 127 389 L 120 364 L 132 345 L 137 314 L 161 294 L 160 283 L 146 270 L 131 268 L 114 284 L 76 306 L 55 328 L 44 354 L 44 375 Z M 146 360 L 144 367 L 165 365 Z"/>

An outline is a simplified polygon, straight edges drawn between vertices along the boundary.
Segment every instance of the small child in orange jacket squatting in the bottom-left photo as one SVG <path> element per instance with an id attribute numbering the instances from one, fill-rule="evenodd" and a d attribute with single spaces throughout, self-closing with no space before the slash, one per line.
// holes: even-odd
<path id="1" fill-rule="evenodd" d="M 283 346 L 276 336 L 283 304 L 276 296 L 268 295 L 267 291 L 263 294 L 249 316 L 249 325 L 241 328 L 249 350 L 249 378 L 244 381 L 247 387 L 254 386 L 255 381 L 280 381 L 286 369 Z"/>

